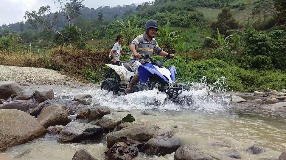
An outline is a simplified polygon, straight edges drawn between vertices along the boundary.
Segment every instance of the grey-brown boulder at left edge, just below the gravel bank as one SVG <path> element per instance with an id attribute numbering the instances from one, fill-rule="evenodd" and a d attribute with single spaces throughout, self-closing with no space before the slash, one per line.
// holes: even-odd
<path id="1" fill-rule="evenodd" d="M 0 99 L 7 99 L 14 93 L 20 92 L 21 86 L 14 81 L 1 81 L 0 82 Z"/>

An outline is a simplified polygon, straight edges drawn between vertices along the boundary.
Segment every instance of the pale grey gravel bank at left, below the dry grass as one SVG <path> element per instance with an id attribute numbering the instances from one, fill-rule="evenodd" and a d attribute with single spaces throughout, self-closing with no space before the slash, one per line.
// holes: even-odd
<path id="1" fill-rule="evenodd" d="M 0 65 L 0 81 L 13 80 L 28 84 L 40 85 L 70 85 L 96 87 L 92 83 L 81 83 L 57 71 L 45 68 L 29 68 Z"/>

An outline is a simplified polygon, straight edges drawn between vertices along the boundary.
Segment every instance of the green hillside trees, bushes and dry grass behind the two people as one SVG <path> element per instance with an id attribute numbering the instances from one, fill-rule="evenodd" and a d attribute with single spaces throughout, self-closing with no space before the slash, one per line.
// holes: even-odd
<path id="1" fill-rule="evenodd" d="M 229 90 L 240 92 L 285 88 L 285 4 L 279 0 L 175 1 L 98 9 L 77 4 L 73 11 L 62 8 L 49 13 L 48 7 L 41 7 L 40 14 L 26 12 L 26 23 L 1 26 L 0 65 L 54 69 L 98 83 L 108 70 L 104 64 L 109 63 L 114 37 L 123 34 L 122 49 L 130 53 L 130 41 L 144 32 L 148 19 L 155 19 L 161 25 L 155 38 L 178 58 L 165 64 L 175 65 L 178 81 L 198 82 L 206 76 L 211 84 L 224 79 Z M 261 12 L 263 9 L 268 12 Z M 65 12 L 74 14 L 66 17 L 66 26 L 62 22 Z M 97 17 L 93 17 L 95 13 Z M 43 19 L 43 14 L 54 18 Z M 50 23 L 52 26 L 39 25 L 57 18 L 60 21 Z M 53 49 L 27 45 L 31 43 Z M 128 61 L 129 56 L 121 59 Z"/>

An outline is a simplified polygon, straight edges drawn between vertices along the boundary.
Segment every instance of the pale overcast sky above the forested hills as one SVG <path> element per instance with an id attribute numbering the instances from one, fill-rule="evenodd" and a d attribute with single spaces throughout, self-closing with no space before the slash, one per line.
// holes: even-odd
<path id="1" fill-rule="evenodd" d="M 26 11 L 37 11 L 41 6 L 49 5 L 52 12 L 57 11 L 52 0 L 0 0 L 0 25 L 25 21 Z M 88 8 L 100 6 L 117 6 L 122 4 L 143 3 L 147 0 L 85 0 L 83 4 Z"/>

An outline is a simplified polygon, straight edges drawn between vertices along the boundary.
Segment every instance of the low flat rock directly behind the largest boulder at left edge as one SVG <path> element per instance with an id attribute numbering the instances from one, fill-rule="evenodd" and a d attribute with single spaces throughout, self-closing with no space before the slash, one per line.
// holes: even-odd
<path id="1" fill-rule="evenodd" d="M 0 109 L 17 109 L 27 112 L 29 109 L 34 108 L 39 103 L 34 103 L 27 100 L 14 100 L 0 105 Z"/>

